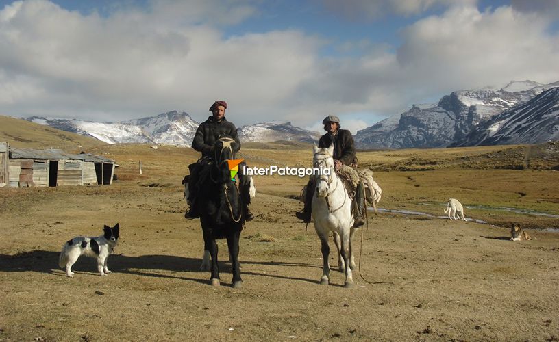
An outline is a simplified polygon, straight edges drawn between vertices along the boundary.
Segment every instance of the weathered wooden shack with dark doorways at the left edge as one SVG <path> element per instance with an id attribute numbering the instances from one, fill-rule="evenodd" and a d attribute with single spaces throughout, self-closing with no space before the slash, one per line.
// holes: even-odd
<path id="1" fill-rule="evenodd" d="M 0 163 L 6 164 L 0 171 L 0 186 L 10 187 L 109 185 L 115 168 L 113 160 L 98 155 L 12 148 L 6 143 L 0 143 Z"/>

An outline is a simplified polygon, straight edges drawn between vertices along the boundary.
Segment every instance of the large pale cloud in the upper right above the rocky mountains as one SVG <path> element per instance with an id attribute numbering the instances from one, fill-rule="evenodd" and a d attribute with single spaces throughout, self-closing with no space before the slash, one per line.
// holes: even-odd
<path id="1" fill-rule="evenodd" d="M 497 86 L 510 79 L 557 81 L 558 38 L 546 33 L 547 25 L 537 14 L 508 6 L 493 12 L 452 8 L 406 27 L 397 60 L 415 82 L 441 89 Z"/>

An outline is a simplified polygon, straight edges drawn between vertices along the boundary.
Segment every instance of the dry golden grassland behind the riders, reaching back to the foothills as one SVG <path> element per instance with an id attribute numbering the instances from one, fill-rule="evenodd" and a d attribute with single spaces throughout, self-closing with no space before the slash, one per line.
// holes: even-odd
<path id="1" fill-rule="evenodd" d="M 249 166 L 269 165 L 302 167 L 312 164 L 312 146 L 302 145 L 289 149 L 280 143 L 271 148 L 248 146 L 238 157 Z M 260 144 L 259 146 L 262 146 Z M 280 146 L 280 147 L 278 147 Z M 524 215 L 502 208 L 526 209 L 559 215 L 559 172 L 551 170 L 559 153 L 547 155 L 545 168 L 507 169 L 505 164 L 524 161 L 519 151 L 529 148 L 543 150 L 542 146 L 486 146 L 473 148 L 443 148 L 430 150 L 360 151 L 360 165 L 376 168 L 375 180 L 383 189 L 380 207 L 395 210 L 421 211 L 443 215 L 448 198 L 458 198 L 467 207 L 469 218 L 490 224 L 507 226 L 521 222 L 531 228 L 558 227 L 557 218 Z M 119 164 L 116 174 L 123 181 L 139 185 L 172 185 L 188 174 L 188 164 L 199 155 L 191 148 L 160 146 L 157 150 L 147 144 L 118 144 L 98 146 L 90 153 L 115 159 Z M 488 157 L 492 156 L 492 157 Z M 425 161 L 424 165 L 436 166 L 433 170 L 408 170 L 402 165 L 410 161 Z M 473 163 L 473 160 L 477 160 Z M 138 164 L 142 161 L 142 175 Z M 381 162 L 382 161 L 382 162 Z M 375 167 L 376 166 L 376 167 Z M 472 166 L 477 166 L 473 168 Z M 306 184 L 306 178 L 297 176 L 255 176 L 258 191 L 284 198 L 295 198 Z M 501 208 L 501 210 L 499 210 Z"/>

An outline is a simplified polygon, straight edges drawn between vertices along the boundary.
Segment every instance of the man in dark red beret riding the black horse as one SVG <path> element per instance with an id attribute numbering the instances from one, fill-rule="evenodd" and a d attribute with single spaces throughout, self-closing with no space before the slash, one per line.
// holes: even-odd
<path id="1" fill-rule="evenodd" d="M 203 168 L 208 166 L 209 161 L 214 155 L 214 144 L 220 137 L 231 137 L 235 140 L 234 152 L 240 150 L 240 142 L 237 136 L 237 130 L 232 122 L 225 119 L 225 109 L 227 109 L 227 103 L 225 101 L 215 101 L 210 107 L 212 116 L 208 118 L 205 122 L 202 122 L 196 134 L 194 140 L 192 140 L 192 148 L 202 153 L 202 157 L 194 164 L 188 166 L 190 169 L 190 179 L 188 180 L 188 203 L 190 204 L 190 210 L 186 211 L 184 214 L 185 218 L 193 219 L 199 218 L 200 212 L 197 206 L 197 194 L 199 192 L 200 186 L 200 173 Z M 238 175 L 240 177 L 240 193 L 243 196 L 243 202 L 245 203 L 245 221 L 253 220 L 254 216 L 249 210 L 250 203 L 250 179 L 248 176 L 243 174 L 243 163 L 239 165 Z"/>

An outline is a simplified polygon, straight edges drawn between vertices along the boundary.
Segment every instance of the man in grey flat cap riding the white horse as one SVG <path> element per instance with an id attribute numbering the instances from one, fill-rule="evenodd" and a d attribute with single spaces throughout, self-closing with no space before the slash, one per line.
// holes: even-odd
<path id="1" fill-rule="evenodd" d="M 324 130 L 327 131 L 319 140 L 319 148 L 328 148 L 330 145 L 334 144 L 334 166 L 336 170 L 339 170 L 341 166 L 357 166 L 357 157 L 355 142 L 353 142 L 353 136 L 351 132 L 347 129 L 340 129 L 340 119 L 335 115 L 329 115 L 322 121 L 324 125 Z M 349 172 L 354 172 L 352 178 L 360 179 L 357 171 L 353 168 L 345 168 Z M 316 187 L 314 177 L 310 177 L 307 184 L 307 192 L 305 197 L 305 207 L 303 211 L 297 211 L 295 215 L 303 222 L 310 222 L 311 218 L 311 206 L 312 206 L 312 196 L 314 195 L 314 190 Z M 353 207 L 356 207 L 357 215 L 353 226 L 358 228 L 363 226 L 364 222 L 364 187 L 363 181 L 359 181 L 356 187 L 356 194 L 353 198 Z"/>

